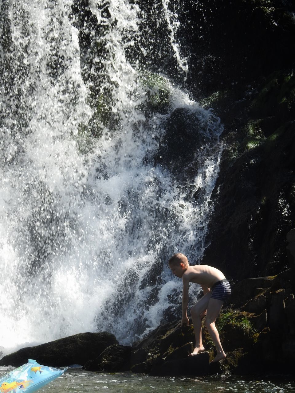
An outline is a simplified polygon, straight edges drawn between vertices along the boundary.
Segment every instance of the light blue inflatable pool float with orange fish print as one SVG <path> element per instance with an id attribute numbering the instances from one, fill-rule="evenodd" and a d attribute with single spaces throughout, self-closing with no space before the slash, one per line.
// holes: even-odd
<path id="1" fill-rule="evenodd" d="M 42 366 L 35 360 L 10 371 L 0 378 L 0 393 L 32 393 L 66 371 Z"/>

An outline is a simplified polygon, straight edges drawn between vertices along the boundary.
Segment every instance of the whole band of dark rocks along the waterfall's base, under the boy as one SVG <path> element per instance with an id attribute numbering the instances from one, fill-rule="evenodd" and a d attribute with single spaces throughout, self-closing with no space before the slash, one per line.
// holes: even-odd
<path id="1" fill-rule="evenodd" d="M 92 372 L 147 373 L 154 376 L 202 376 L 230 371 L 239 375 L 293 373 L 295 298 L 291 269 L 275 276 L 245 279 L 216 321 L 227 358 L 210 363 L 214 345 L 205 326 L 206 351 L 188 356 L 194 347 L 192 324 L 160 325 L 132 346 L 119 345 L 108 332 L 80 333 L 4 356 L 0 365 L 20 366 L 32 358 L 54 367 L 79 364 Z"/>

